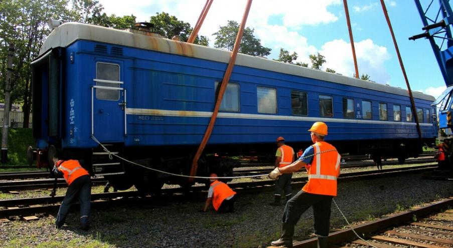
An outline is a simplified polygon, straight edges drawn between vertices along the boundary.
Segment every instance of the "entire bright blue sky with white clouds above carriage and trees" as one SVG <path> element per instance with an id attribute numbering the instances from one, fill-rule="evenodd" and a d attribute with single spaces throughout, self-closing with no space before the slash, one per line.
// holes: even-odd
<path id="1" fill-rule="evenodd" d="M 194 27 L 206 0 L 128 0 L 127 5 L 120 0 L 99 2 L 109 15 L 133 14 L 137 22 L 145 22 L 157 12 L 167 12 Z M 420 2 L 426 6 L 430 1 Z M 438 96 L 445 89 L 445 83 L 429 42 L 408 40 L 422 33 L 414 1 L 386 0 L 385 3 L 411 89 Z M 214 0 L 199 35 L 210 38 L 210 46 L 213 46 L 212 34 L 228 20 L 240 23 L 245 4 L 246 0 Z M 348 7 L 359 74 L 368 74 L 377 83 L 406 89 L 380 1 L 349 0 Z M 354 64 L 342 0 L 254 0 L 246 26 L 255 30 L 255 37 L 263 46 L 272 49 L 270 59 L 278 57 L 280 48 L 296 52 L 300 62 L 309 62 L 309 55 L 319 52 L 327 60 L 324 70 L 331 68 L 345 76 L 353 76 Z"/>

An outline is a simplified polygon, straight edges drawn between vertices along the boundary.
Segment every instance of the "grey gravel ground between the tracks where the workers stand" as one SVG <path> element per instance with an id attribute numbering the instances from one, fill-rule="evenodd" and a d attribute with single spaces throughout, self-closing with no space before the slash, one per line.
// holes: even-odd
<path id="1" fill-rule="evenodd" d="M 453 181 L 406 174 L 340 182 L 334 199 L 350 222 L 360 222 L 451 196 Z M 272 190 L 238 194 L 235 212 L 225 214 L 212 206 L 198 212 L 203 200 L 94 209 L 88 231 L 79 229 L 79 209 L 72 208 L 62 229 L 55 229 L 52 216 L 0 223 L 0 247 L 266 247 L 279 235 L 284 207 L 270 206 L 272 200 Z M 331 228 L 345 225 L 332 204 Z M 311 237 L 310 209 L 301 216 L 294 239 Z"/>

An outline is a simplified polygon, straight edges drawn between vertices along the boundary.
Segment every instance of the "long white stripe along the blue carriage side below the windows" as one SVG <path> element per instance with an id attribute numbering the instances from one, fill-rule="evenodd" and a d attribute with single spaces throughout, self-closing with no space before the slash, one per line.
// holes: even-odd
<path id="1" fill-rule="evenodd" d="M 210 118 L 212 115 L 212 112 L 126 108 L 126 114 L 128 114 L 128 115 L 180 116 L 180 117 L 206 117 L 206 118 L 209 117 Z M 259 115 L 259 114 L 241 114 L 241 113 L 224 113 L 224 112 L 219 112 L 217 117 L 218 118 L 236 118 L 236 119 L 323 121 L 323 122 L 347 122 L 347 123 L 409 125 L 409 126 L 416 125 L 415 122 L 373 121 L 373 120 L 358 120 L 358 119 L 339 119 L 339 118 L 285 116 L 285 115 Z M 430 127 L 430 126 L 432 126 L 432 123 L 420 123 L 420 126 L 429 126 Z"/>

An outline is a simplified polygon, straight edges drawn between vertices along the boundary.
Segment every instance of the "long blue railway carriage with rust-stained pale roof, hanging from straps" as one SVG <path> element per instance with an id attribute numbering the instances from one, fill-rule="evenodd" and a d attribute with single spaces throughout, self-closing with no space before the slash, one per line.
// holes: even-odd
<path id="1" fill-rule="evenodd" d="M 32 63 L 37 148 L 83 158 L 119 189 L 181 183 L 109 159 L 94 138 L 130 161 L 189 174 L 230 54 L 142 29 L 63 24 Z M 434 98 L 413 96 L 421 140 L 407 90 L 238 54 L 198 175 L 228 173 L 233 154 L 273 157 L 278 136 L 305 149 L 315 121 L 328 124 L 327 140 L 342 153 L 404 161 L 437 133 Z"/>

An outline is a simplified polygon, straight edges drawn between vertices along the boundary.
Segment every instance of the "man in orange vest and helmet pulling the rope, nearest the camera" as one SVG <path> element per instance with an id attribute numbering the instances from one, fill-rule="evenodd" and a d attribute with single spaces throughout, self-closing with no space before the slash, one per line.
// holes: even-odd
<path id="1" fill-rule="evenodd" d="M 315 122 L 308 131 L 311 132 L 314 144 L 294 163 L 283 168 L 277 167 L 269 173 L 269 178 L 275 179 L 306 166 L 309 176 L 309 181 L 302 190 L 286 202 L 280 238 L 271 242 L 274 246 L 292 247 L 294 225 L 300 215 L 313 206 L 318 247 L 328 247 L 330 208 L 333 197 L 337 196 L 341 156 L 333 145 L 324 141 L 324 136 L 328 133 L 326 123 Z"/>

